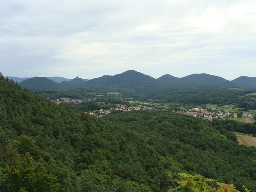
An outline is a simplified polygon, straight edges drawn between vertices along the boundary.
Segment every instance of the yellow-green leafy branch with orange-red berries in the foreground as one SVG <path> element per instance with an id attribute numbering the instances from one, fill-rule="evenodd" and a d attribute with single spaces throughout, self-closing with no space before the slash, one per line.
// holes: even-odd
<path id="1" fill-rule="evenodd" d="M 169 176 L 173 178 L 174 175 L 169 174 Z M 178 186 L 169 192 L 240 192 L 233 184 L 218 182 L 200 174 L 178 173 L 178 178 L 174 179 L 174 183 Z M 250 192 L 244 185 L 243 188 L 244 192 Z"/>

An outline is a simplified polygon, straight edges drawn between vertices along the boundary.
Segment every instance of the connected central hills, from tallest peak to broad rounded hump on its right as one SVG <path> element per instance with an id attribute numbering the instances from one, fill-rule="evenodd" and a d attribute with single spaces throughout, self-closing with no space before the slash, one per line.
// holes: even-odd
<path id="1" fill-rule="evenodd" d="M 216 87 L 242 87 L 241 84 L 225 80 L 222 77 L 209 74 L 192 74 L 183 78 L 177 78 L 172 75 L 164 75 L 154 79 L 134 70 L 126 71 L 114 76 L 102 76 L 88 81 L 88 84 L 97 86 L 98 84 L 115 85 L 129 89 L 158 88 L 161 84 L 164 87 L 194 87 L 203 88 L 207 86 Z"/>

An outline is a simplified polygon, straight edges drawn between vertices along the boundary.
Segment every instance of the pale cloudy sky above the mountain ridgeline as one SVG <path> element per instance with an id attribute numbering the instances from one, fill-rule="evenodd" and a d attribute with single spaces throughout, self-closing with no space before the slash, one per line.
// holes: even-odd
<path id="1" fill-rule="evenodd" d="M 256 77 L 256 0 L 6 0 L 4 76 Z"/>

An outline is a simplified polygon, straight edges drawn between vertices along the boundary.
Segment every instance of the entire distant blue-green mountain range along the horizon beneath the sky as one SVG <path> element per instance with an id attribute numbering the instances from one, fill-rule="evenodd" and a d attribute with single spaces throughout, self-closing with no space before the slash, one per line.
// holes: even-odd
<path id="1" fill-rule="evenodd" d="M 17 78 L 8 77 L 20 82 L 22 87 L 28 89 L 47 89 L 47 90 L 70 90 L 74 88 L 86 88 L 90 90 L 120 91 L 120 90 L 148 90 L 160 91 L 161 89 L 171 90 L 172 88 L 204 88 L 208 86 L 233 87 L 233 88 L 256 88 L 256 78 L 241 76 L 232 81 L 219 76 L 210 74 L 191 74 L 183 78 L 177 78 L 166 74 L 160 78 L 142 74 L 134 70 L 128 70 L 114 76 L 104 75 L 91 80 L 83 80 L 76 77 L 66 79 L 63 77 L 34 77 Z M 22 81 L 21 81 L 22 80 Z"/>

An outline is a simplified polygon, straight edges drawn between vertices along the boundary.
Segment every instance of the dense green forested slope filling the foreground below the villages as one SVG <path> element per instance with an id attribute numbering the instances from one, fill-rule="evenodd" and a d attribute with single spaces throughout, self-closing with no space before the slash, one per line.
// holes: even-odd
<path id="1" fill-rule="evenodd" d="M 0 191 L 165 192 L 177 172 L 256 191 L 256 149 L 217 131 L 234 126 L 167 111 L 95 119 L 0 76 Z"/>

